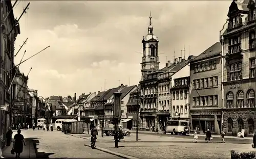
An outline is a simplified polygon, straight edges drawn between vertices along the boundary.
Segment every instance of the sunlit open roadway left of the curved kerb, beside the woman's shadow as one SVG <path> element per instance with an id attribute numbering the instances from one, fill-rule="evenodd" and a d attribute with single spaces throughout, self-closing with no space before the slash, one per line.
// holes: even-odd
<path id="1" fill-rule="evenodd" d="M 61 131 L 23 130 L 24 138 L 35 138 L 37 158 L 119 158 L 109 153 L 84 146 L 84 139 Z M 88 142 L 88 141 L 87 141 Z"/>

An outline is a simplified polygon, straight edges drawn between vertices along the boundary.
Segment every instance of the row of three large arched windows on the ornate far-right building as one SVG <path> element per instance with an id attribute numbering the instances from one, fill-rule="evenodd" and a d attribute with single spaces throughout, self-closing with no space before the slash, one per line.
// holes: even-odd
<path id="1" fill-rule="evenodd" d="M 232 92 L 228 92 L 226 96 L 227 108 L 234 108 L 234 95 Z M 237 93 L 237 108 L 254 108 L 255 107 L 255 92 L 249 90 L 247 92 L 247 105 L 244 104 L 244 92 L 239 91 Z"/>

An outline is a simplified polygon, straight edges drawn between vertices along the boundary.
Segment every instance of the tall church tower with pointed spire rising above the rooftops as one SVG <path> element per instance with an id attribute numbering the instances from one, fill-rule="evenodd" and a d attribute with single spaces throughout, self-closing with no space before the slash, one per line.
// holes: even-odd
<path id="1" fill-rule="evenodd" d="M 153 34 L 153 26 L 151 22 L 150 13 L 150 25 L 147 28 L 147 35 L 143 36 L 143 56 L 141 64 L 141 80 L 144 79 L 145 74 L 156 72 L 159 69 L 159 58 L 158 58 L 158 40 Z"/>

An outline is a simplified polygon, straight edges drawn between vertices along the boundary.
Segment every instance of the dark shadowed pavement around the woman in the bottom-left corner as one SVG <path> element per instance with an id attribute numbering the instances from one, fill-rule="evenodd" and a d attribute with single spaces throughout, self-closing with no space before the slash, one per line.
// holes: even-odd
<path id="1" fill-rule="evenodd" d="M 23 130 L 23 129 L 21 129 Z M 16 133 L 17 130 L 13 130 L 13 137 Z M 26 138 L 26 137 L 25 137 Z M 35 149 L 34 149 L 34 145 L 32 143 L 32 141 L 29 141 L 27 139 L 24 139 L 26 146 L 23 146 L 23 152 L 20 153 L 20 158 L 36 158 L 36 153 L 35 153 Z M 15 154 L 11 154 L 11 150 L 12 150 L 12 144 L 11 146 L 5 146 L 2 149 L 2 156 L 5 158 L 15 158 Z"/>

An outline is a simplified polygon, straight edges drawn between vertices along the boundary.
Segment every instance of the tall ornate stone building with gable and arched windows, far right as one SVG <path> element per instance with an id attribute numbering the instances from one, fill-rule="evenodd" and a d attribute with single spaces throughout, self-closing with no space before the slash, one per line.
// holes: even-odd
<path id="1" fill-rule="evenodd" d="M 221 37 L 223 126 L 227 135 L 251 136 L 255 109 L 255 1 L 233 1 Z"/>

